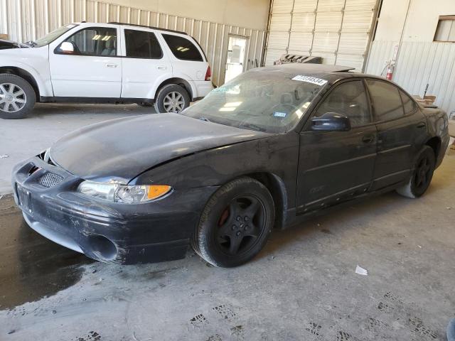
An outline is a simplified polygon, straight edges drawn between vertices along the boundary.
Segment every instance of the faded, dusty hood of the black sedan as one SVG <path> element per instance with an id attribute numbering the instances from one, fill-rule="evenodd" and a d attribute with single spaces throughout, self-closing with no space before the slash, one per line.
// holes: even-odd
<path id="1" fill-rule="evenodd" d="M 128 182 L 176 158 L 270 135 L 180 114 L 151 114 L 73 131 L 55 142 L 50 158 L 80 178 Z"/>

